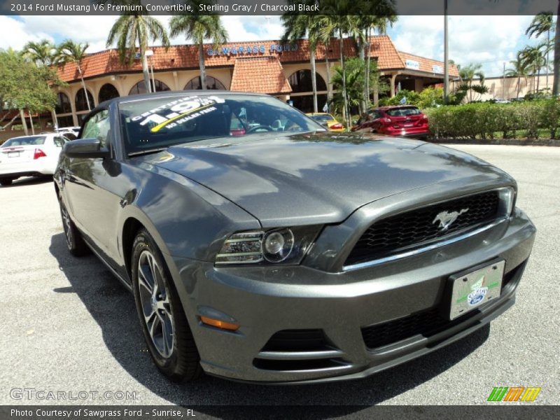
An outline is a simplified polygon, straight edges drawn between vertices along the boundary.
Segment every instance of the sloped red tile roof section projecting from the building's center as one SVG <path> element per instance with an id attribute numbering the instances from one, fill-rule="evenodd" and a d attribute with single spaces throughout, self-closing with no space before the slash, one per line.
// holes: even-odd
<path id="1" fill-rule="evenodd" d="M 290 93 L 277 57 L 247 57 L 235 60 L 230 90 L 256 93 Z"/>

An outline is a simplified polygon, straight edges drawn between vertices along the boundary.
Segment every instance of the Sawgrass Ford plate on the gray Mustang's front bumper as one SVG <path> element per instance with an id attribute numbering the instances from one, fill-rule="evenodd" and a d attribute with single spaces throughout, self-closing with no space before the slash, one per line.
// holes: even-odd
<path id="1" fill-rule="evenodd" d="M 504 267 L 504 260 L 496 260 L 493 264 L 475 267 L 471 272 L 451 276 L 453 291 L 449 319 L 458 318 L 481 304 L 500 297 Z"/>

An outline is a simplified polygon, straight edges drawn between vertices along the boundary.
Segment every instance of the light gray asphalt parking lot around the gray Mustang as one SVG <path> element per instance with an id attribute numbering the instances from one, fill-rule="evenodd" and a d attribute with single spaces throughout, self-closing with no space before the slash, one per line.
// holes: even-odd
<path id="1" fill-rule="evenodd" d="M 13 388 L 34 388 L 136 393 L 129 401 L 74 401 L 80 404 L 479 405 L 494 386 L 540 386 L 535 404 L 560 404 L 560 148 L 454 147 L 512 174 L 517 205 L 537 225 L 517 303 L 445 349 L 367 379 L 324 385 L 208 376 L 169 383 L 146 352 L 132 295 L 94 256 L 66 252 L 52 180 L 0 188 L 0 404 L 71 402 L 10 397 Z"/>

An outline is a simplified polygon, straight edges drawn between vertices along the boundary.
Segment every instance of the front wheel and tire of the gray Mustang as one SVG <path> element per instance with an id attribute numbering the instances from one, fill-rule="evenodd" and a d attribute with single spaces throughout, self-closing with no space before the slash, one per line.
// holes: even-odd
<path id="1" fill-rule="evenodd" d="M 132 290 L 150 355 L 172 381 L 200 376 L 200 356 L 162 253 L 146 230 L 132 244 Z M 154 287 L 155 286 L 155 287 Z"/>

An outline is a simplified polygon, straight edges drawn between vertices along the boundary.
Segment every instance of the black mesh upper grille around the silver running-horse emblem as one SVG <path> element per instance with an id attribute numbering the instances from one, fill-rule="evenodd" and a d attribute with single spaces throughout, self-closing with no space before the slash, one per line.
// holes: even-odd
<path id="1" fill-rule="evenodd" d="M 488 191 L 397 214 L 374 223 L 356 242 L 344 265 L 383 258 L 427 241 L 493 221 L 498 215 L 498 191 Z M 463 211 L 468 209 L 468 211 Z M 441 212 L 461 213 L 447 230 L 435 218 Z"/>

